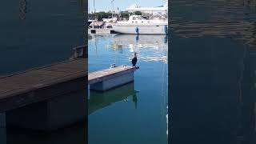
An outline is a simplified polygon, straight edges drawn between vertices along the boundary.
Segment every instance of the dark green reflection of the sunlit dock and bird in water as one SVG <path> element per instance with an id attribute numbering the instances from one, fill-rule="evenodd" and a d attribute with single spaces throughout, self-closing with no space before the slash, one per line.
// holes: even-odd
<path id="1" fill-rule="evenodd" d="M 129 102 L 129 100 L 134 102 L 135 109 L 137 109 L 137 93 L 138 91 L 134 90 L 134 82 L 106 92 L 90 90 L 88 113 L 92 114 L 97 110 L 112 105 L 114 102 Z"/>

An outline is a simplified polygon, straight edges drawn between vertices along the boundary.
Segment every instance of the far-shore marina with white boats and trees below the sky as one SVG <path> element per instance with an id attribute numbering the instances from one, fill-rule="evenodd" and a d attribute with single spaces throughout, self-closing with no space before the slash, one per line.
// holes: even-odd
<path id="1" fill-rule="evenodd" d="M 114 1 L 111 1 L 113 5 Z M 95 11 L 89 13 L 89 34 L 168 34 L 168 2 L 164 6 L 140 7 L 137 4 L 127 7 L 125 11 Z M 140 14 L 136 14 L 136 13 Z M 122 13 L 126 13 L 126 16 Z M 102 16 L 105 14 L 105 16 Z M 107 16 L 108 15 L 108 16 Z M 115 16 L 114 16 L 115 15 Z M 128 18 L 125 18 L 127 17 Z M 92 18 L 94 17 L 94 18 Z M 98 20 L 96 20 L 98 18 Z"/>

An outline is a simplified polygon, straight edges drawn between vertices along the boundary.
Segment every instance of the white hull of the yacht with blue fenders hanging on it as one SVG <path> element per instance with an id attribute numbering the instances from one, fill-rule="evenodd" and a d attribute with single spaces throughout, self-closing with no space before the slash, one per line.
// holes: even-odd
<path id="1" fill-rule="evenodd" d="M 129 26 L 129 25 L 112 25 L 113 30 L 120 34 L 168 34 L 167 25 L 152 26 Z"/>

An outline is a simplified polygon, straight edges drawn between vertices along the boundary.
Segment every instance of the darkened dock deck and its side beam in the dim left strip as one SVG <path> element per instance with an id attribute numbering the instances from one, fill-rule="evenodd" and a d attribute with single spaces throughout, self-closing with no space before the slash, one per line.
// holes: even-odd
<path id="1" fill-rule="evenodd" d="M 87 58 L 78 58 L 2 76 L 0 77 L 0 111 L 46 100 L 51 97 L 49 94 L 54 95 L 53 93 L 62 91 L 54 89 L 49 91 L 49 89 L 49 94 L 46 94 L 48 88 L 55 86 L 56 89 L 58 84 L 64 86 L 65 82 L 87 78 L 87 73 Z M 73 85 L 75 84 L 73 82 Z M 61 86 L 57 87 L 61 88 Z M 43 90 L 43 94 L 37 94 L 38 90 Z"/>

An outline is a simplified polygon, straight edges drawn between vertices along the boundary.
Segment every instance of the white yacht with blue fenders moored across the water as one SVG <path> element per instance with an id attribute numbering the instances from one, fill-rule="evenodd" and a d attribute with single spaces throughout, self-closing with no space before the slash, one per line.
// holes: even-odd
<path id="1" fill-rule="evenodd" d="M 121 34 L 168 34 L 167 18 L 146 19 L 131 15 L 128 21 L 113 23 L 112 27 Z"/>

